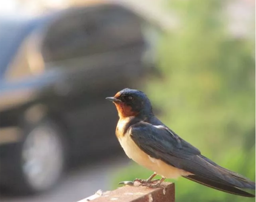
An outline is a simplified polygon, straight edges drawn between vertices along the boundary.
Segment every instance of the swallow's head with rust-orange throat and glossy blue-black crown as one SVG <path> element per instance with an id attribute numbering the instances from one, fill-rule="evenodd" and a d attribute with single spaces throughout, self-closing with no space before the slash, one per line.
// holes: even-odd
<path id="1" fill-rule="evenodd" d="M 115 104 L 120 118 L 153 114 L 151 103 L 142 91 L 126 88 L 106 99 Z"/>

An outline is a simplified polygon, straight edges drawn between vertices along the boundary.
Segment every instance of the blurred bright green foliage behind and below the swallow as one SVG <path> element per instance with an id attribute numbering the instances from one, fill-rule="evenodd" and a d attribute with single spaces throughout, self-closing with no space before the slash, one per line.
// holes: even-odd
<path id="1" fill-rule="evenodd" d="M 162 110 L 160 119 L 219 165 L 255 180 L 255 42 L 226 31 L 221 0 L 173 0 L 180 29 L 162 36 L 159 68 L 144 90 Z M 123 180 L 152 171 L 132 164 Z M 173 181 L 173 180 L 172 180 Z M 186 179 L 176 201 L 253 202 Z"/>

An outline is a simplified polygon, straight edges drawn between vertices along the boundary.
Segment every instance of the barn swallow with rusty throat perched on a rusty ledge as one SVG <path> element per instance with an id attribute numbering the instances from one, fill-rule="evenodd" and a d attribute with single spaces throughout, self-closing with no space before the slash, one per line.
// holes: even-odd
<path id="1" fill-rule="evenodd" d="M 255 182 L 201 155 L 154 116 L 150 100 L 142 91 L 126 88 L 106 99 L 118 111 L 115 133 L 126 155 L 154 171 L 147 180 L 137 179 L 142 186 L 158 187 L 165 178 L 182 176 L 227 193 L 255 197 L 240 189 L 255 189 Z M 153 180 L 157 174 L 162 178 Z"/>

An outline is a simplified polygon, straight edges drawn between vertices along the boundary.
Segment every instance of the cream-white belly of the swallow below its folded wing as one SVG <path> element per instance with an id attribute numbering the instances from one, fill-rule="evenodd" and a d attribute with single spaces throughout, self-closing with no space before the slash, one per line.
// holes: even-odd
<path id="1" fill-rule="evenodd" d="M 118 140 L 129 158 L 144 166 L 145 168 L 151 171 L 155 171 L 163 177 L 178 178 L 181 175 L 186 176 L 191 174 L 190 172 L 170 166 L 160 159 L 156 159 L 147 155 L 135 144 L 128 133 Z"/>

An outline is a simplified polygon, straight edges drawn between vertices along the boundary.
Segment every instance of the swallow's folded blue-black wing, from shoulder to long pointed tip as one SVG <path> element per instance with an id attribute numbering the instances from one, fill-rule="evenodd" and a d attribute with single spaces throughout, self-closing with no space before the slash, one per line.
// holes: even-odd
<path id="1" fill-rule="evenodd" d="M 128 133 L 131 139 L 146 154 L 171 166 L 191 172 L 193 175 L 190 176 L 196 176 L 196 179 L 191 180 L 199 182 L 199 179 L 201 179 L 201 184 L 203 184 L 203 181 L 210 181 L 216 182 L 213 183 L 214 185 L 221 184 L 223 186 L 255 189 L 254 182 L 215 164 L 166 126 L 139 122 L 133 124 Z"/>

